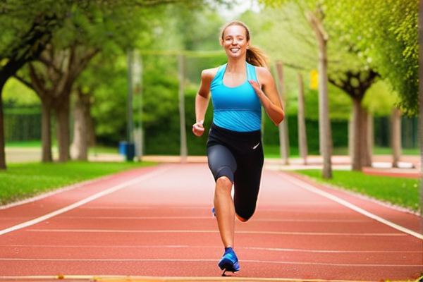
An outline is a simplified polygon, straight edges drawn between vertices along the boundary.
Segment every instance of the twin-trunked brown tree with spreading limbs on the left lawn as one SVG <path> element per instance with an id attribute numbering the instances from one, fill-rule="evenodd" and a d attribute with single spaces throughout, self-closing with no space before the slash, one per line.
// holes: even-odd
<path id="1" fill-rule="evenodd" d="M 87 48 L 78 42 L 59 50 L 50 43 L 37 60 L 42 66 L 30 63 L 30 82 L 18 76 L 42 101 L 42 161 L 51 161 L 51 110 L 56 116 L 59 161 L 68 161 L 72 86 L 98 52 L 99 48 Z"/>

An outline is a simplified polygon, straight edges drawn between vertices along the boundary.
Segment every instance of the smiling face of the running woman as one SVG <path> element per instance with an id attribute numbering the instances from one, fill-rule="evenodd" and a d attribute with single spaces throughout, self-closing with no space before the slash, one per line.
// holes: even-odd
<path id="1" fill-rule="evenodd" d="M 242 25 L 229 25 L 223 30 L 220 39 L 221 46 L 226 51 L 228 58 L 245 58 L 250 47 L 250 38 L 247 30 Z"/>

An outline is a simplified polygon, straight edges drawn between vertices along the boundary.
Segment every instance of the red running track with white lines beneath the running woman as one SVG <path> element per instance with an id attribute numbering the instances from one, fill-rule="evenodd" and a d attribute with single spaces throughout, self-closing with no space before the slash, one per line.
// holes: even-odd
<path id="1" fill-rule="evenodd" d="M 0 281 L 217 279 L 213 188 L 207 164 L 164 164 L 0 209 Z M 281 171 L 264 171 L 255 216 L 235 228 L 241 270 L 228 279 L 406 281 L 423 269 L 418 216 Z"/>

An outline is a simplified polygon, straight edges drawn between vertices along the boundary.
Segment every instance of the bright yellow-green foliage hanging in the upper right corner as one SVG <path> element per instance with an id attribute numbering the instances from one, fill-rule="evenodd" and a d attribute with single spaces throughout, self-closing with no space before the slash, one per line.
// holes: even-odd
<path id="1" fill-rule="evenodd" d="M 302 12 L 321 8 L 325 14 L 324 27 L 330 37 L 329 71 L 342 73 L 345 68 L 374 68 L 398 93 L 398 104 L 403 111 L 408 115 L 417 114 L 417 0 L 260 2 L 276 8 L 276 11 L 281 11 L 283 6 L 284 11 L 295 12 L 293 4 Z M 298 15 L 296 12 L 291 14 Z M 286 18 L 286 13 L 283 17 Z M 295 48 L 299 46 L 301 49 L 302 45 L 295 45 Z"/>

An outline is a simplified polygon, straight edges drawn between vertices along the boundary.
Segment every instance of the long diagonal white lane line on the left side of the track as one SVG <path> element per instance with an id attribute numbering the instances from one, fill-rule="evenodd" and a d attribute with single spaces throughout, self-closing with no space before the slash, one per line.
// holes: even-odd
<path id="1" fill-rule="evenodd" d="M 125 188 L 125 187 L 127 187 L 129 185 L 134 185 L 134 184 L 140 183 L 140 182 L 142 182 L 144 180 L 147 180 L 149 178 L 152 178 L 154 176 L 157 176 L 157 175 L 159 175 L 161 173 L 164 173 L 164 171 L 166 171 L 168 169 L 169 169 L 169 166 L 161 167 L 161 168 L 157 169 L 156 171 L 152 171 L 152 172 L 146 173 L 146 174 L 144 174 L 142 176 L 139 176 L 137 178 L 134 178 L 132 180 L 125 181 L 124 183 L 115 185 L 115 186 L 113 186 L 113 187 L 111 187 L 109 189 L 103 190 L 102 192 L 98 192 L 98 193 L 96 193 L 94 195 L 91 195 L 90 197 L 87 197 L 87 198 L 82 199 L 82 200 L 80 200 L 78 202 L 75 202 L 73 204 L 70 204 L 67 207 L 63 207 L 63 208 L 58 209 L 58 210 L 56 210 L 54 212 L 51 212 L 49 214 L 44 214 L 44 216 L 39 216 L 36 219 L 32 219 L 30 221 L 26 221 L 26 222 L 20 223 L 20 224 L 18 224 L 16 226 L 12 226 L 10 228 L 6 228 L 4 230 L 1 230 L 0 231 L 0 235 L 4 235 L 6 233 L 9 233 L 9 232 L 12 232 L 12 231 L 16 231 L 18 229 L 25 228 L 27 226 L 32 226 L 32 225 L 34 225 L 36 223 L 42 222 L 42 221 L 47 220 L 47 219 L 51 219 L 51 217 L 57 216 L 59 214 L 63 214 L 64 212 L 68 212 L 71 209 L 75 209 L 77 207 L 80 207 L 80 206 L 82 206 L 82 204 L 87 204 L 88 202 L 92 202 L 94 200 L 97 200 L 100 197 L 104 197 L 106 195 L 109 195 L 109 194 L 111 194 L 113 192 L 116 192 L 118 190 L 121 190 L 122 188 Z"/>

